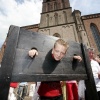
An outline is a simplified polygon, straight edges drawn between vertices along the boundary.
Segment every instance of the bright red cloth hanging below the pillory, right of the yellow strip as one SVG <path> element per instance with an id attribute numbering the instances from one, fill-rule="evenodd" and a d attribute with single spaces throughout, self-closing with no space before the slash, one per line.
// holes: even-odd
<path id="1" fill-rule="evenodd" d="M 66 83 L 68 100 L 78 100 L 78 88 L 76 83 Z"/>

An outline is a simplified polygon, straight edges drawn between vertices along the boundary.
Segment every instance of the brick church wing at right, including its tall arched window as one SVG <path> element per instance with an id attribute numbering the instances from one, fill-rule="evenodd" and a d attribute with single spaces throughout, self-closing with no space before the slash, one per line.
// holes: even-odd
<path id="1" fill-rule="evenodd" d="M 100 13 L 85 15 L 81 17 L 90 47 L 95 48 L 96 52 L 100 52 Z"/>

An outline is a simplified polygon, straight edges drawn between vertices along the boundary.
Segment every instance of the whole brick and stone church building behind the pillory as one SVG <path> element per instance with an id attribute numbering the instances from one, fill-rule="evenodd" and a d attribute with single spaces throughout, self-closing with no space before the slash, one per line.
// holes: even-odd
<path id="1" fill-rule="evenodd" d="M 31 30 L 36 29 L 31 25 Z M 36 32 L 84 43 L 100 52 L 100 13 L 81 16 L 70 7 L 69 0 L 43 0 L 40 23 Z M 23 26 L 30 30 L 30 26 Z"/>

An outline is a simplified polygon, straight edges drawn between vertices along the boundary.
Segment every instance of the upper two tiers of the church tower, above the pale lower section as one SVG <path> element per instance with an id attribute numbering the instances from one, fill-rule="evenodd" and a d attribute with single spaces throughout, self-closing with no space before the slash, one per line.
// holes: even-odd
<path id="1" fill-rule="evenodd" d="M 68 12 L 70 13 L 67 15 Z M 68 18 L 70 14 L 69 0 L 44 0 L 40 28 L 68 23 L 72 20 Z"/>

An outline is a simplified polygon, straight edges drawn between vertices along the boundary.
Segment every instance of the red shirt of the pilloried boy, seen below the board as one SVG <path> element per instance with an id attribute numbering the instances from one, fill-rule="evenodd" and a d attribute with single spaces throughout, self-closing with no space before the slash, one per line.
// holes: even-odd
<path id="1" fill-rule="evenodd" d="M 45 97 L 55 97 L 62 94 L 61 84 L 55 82 L 41 82 L 38 94 Z"/>

